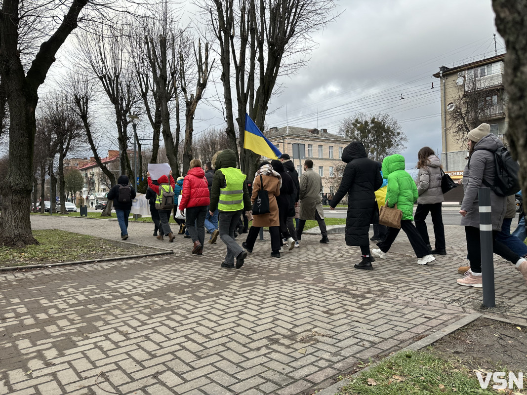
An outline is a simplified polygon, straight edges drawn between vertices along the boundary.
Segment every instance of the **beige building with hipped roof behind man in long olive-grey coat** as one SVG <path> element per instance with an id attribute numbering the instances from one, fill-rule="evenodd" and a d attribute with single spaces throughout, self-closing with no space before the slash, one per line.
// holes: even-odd
<path id="1" fill-rule="evenodd" d="M 326 129 L 307 129 L 305 127 L 271 127 L 266 133 L 267 139 L 282 153 L 289 154 L 295 163 L 298 175 L 302 175 L 304 161 L 313 161 L 313 170 L 322 177 L 322 193 L 335 192 L 335 183 L 331 182 L 341 160 L 344 147 L 351 140 L 343 136 L 328 133 Z"/>

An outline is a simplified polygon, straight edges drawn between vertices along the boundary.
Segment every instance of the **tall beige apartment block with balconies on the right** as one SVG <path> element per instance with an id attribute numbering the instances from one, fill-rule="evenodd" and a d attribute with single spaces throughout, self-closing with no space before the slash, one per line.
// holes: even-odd
<path id="1" fill-rule="evenodd" d="M 501 54 L 461 66 L 441 66 L 433 75 L 441 81 L 441 160 L 453 179 L 462 177 L 466 164 L 466 126 L 472 129 L 476 123 L 486 122 L 496 135 L 507 130 L 504 57 Z M 465 134 L 460 133 L 463 129 Z"/>

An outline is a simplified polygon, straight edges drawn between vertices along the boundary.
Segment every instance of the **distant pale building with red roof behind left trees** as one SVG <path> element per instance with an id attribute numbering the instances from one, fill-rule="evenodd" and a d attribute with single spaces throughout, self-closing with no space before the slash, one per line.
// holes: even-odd
<path id="1" fill-rule="evenodd" d="M 109 170 L 111 170 L 115 176 L 119 176 L 119 151 L 110 150 L 108 156 L 101 159 Z M 83 200 L 80 204 L 86 204 L 88 206 L 95 206 L 100 202 L 106 201 L 106 196 L 110 192 L 110 183 L 107 177 L 100 169 L 95 158 L 91 157 L 89 161 L 86 161 L 83 165 L 78 167 L 81 174 L 84 176 L 84 186 L 80 192 L 80 197 Z"/>

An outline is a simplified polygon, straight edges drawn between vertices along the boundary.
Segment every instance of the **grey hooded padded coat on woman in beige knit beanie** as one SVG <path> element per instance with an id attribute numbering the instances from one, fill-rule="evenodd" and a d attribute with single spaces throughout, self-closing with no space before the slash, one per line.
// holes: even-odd
<path id="1" fill-rule="evenodd" d="M 483 180 L 492 184 L 496 171 L 494 153 L 483 149 L 496 151 L 501 147 L 503 147 L 502 141 L 492 133 L 487 134 L 474 146 L 474 152 L 463 171 L 463 191 L 465 196 L 461 203 L 461 210 L 465 210 L 467 214 L 461 218 L 461 226 L 480 227 L 477 189 L 486 187 L 483 184 Z M 492 230 L 500 231 L 505 218 L 506 199 L 496 195 L 492 190 L 491 211 Z"/>

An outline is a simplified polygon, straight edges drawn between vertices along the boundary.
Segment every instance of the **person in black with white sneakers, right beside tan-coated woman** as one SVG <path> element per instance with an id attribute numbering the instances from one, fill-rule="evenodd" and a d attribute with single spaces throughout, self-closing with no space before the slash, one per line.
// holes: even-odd
<path id="1" fill-rule="evenodd" d="M 282 186 L 280 187 L 280 195 L 276 197 L 278 204 L 278 217 L 280 221 L 280 243 L 282 238 L 286 244 L 286 249 L 291 251 L 295 248 L 295 239 L 291 237 L 289 229 L 287 228 L 287 217 L 295 213 L 295 192 L 293 180 L 291 176 L 284 169 L 284 165 L 277 159 L 271 161 L 272 168 L 282 177 Z"/>

